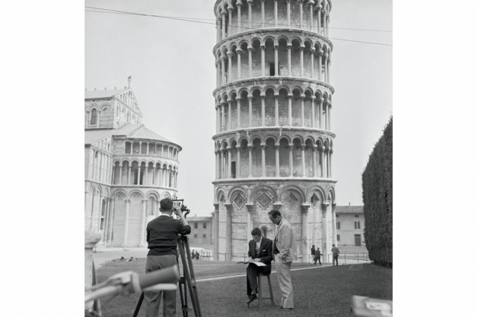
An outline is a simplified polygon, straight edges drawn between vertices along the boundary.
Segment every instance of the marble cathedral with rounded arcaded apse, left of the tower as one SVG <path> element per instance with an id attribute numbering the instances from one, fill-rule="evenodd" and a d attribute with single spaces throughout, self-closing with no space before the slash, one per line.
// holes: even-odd
<path id="1" fill-rule="evenodd" d="M 141 123 L 133 90 L 85 94 L 85 229 L 98 245 L 146 246 L 161 198 L 177 196 L 182 148 Z"/>

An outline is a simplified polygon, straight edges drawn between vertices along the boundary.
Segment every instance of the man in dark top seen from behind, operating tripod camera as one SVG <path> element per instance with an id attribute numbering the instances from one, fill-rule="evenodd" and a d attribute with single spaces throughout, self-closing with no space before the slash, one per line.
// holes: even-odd
<path id="1" fill-rule="evenodd" d="M 182 210 L 173 204 L 172 199 L 161 200 L 161 215 L 147 224 L 146 273 L 173 267 L 177 264 L 177 234 L 191 233 L 191 227 L 182 215 Z M 176 220 L 172 213 L 180 217 Z M 163 317 L 175 317 L 175 290 L 145 292 L 146 317 L 159 316 L 159 303 L 163 294 Z"/>

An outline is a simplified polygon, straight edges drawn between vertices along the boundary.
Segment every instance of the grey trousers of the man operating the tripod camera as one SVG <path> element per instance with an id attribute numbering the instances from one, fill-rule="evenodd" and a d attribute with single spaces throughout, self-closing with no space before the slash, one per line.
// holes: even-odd
<path id="1" fill-rule="evenodd" d="M 146 273 L 173 267 L 177 264 L 175 255 L 148 255 Z M 146 302 L 146 317 L 159 316 L 159 304 L 163 297 L 163 317 L 175 317 L 175 290 L 161 290 L 159 292 L 144 292 Z"/>

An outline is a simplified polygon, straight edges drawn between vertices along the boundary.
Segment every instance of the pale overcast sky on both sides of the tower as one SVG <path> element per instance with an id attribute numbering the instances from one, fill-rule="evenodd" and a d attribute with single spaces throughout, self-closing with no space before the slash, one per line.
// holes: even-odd
<path id="1" fill-rule="evenodd" d="M 86 88 L 124 88 L 128 76 L 133 76 L 131 87 L 142 109 L 142 122 L 183 148 L 179 196 L 196 215 L 213 211 L 214 4 L 214 0 L 86 0 L 86 6 L 98 8 L 211 19 L 201 20 L 209 25 L 85 13 Z M 332 1 L 330 71 L 335 87 L 332 130 L 336 133 L 332 167 L 338 205 L 363 203 L 361 173 L 392 112 L 392 47 L 353 42 L 392 44 L 392 32 L 364 29 L 392 31 L 392 1 Z"/>

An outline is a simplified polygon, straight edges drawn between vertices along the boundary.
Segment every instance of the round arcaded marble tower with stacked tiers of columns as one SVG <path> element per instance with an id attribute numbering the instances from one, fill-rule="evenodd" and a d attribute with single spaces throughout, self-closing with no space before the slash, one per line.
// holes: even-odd
<path id="1" fill-rule="evenodd" d="M 241 260 L 280 210 L 298 261 L 336 243 L 330 0 L 217 0 L 215 259 Z"/>

